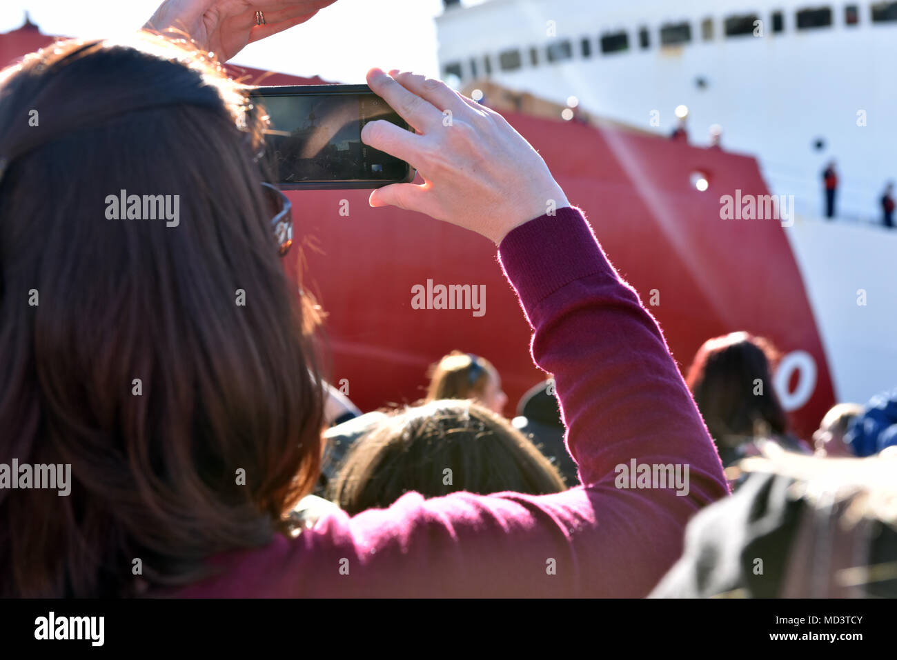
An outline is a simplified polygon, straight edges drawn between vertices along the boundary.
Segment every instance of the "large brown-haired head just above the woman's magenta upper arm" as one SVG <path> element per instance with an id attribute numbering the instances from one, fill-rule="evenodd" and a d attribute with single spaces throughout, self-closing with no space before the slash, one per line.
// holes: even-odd
<path id="1" fill-rule="evenodd" d="M 471 401 L 433 401 L 393 412 L 359 439 L 329 496 L 356 514 L 386 508 L 408 491 L 563 490 L 548 459 L 501 415 Z"/>

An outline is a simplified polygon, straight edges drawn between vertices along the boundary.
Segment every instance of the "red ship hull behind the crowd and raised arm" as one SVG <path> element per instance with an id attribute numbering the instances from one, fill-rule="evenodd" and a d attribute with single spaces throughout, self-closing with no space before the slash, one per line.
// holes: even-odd
<path id="1" fill-rule="evenodd" d="M 813 357 L 813 394 L 791 413 L 795 430 L 808 437 L 834 397 L 788 239 L 778 221 L 719 217 L 720 191 L 768 194 L 756 161 L 625 129 L 506 117 L 585 211 L 614 266 L 657 317 L 681 369 L 706 339 L 736 330 Z M 692 171 L 706 173 L 708 191 L 691 185 Z M 492 360 L 509 406 L 544 378 L 490 241 L 416 213 L 371 209 L 365 191 L 291 196 L 296 235 L 306 241 L 305 286 L 329 314 L 331 378 L 345 378 L 362 409 L 418 398 L 428 365 L 452 349 Z M 340 214 L 343 200 L 348 216 Z M 485 313 L 413 308 L 412 287 L 428 280 L 485 285 Z"/>

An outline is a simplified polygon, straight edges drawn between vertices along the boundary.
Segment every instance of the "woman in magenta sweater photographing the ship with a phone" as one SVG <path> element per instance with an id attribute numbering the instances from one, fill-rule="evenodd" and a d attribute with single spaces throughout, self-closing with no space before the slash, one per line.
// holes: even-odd
<path id="1" fill-rule="evenodd" d="M 152 27 L 180 40 L 59 42 L 0 76 L 0 464 L 70 467 L 66 496 L 0 489 L 0 595 L 638 597 L 727 496 L 657 323 L 536 150 L 444 83 L 371 69 L 416 131 L 361 137 L 424 183 L 370 204 L 496 246 L 583 485 L 294 519 L 318 481 L 322 360 L 279 260 L 289 208 L 256 160 L 264 115 L 216 57 L 326 4 L 262 22 L 255 2 L 165 2 Z M 121 190 L 179 195 L 178 226 L 108 219 Z M 688 465 L 687 494 L 617 486 L 633 461 Z"/>

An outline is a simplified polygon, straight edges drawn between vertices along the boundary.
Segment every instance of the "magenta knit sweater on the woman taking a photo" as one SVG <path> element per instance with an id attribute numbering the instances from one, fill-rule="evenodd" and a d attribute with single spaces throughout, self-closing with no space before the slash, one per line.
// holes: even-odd
<path id="1" fill-rule="evenodd" d="M 554 376 L 585 485 L 542 496 L 407 493 L 216 557 L 221 573 L 179 595 L 649 593 L 682 553 L 689 518 L 727 495 L 716 449 L 656 322 L 578 210 L 512 230 L 500 257 L 535 330 L 533 358 Z M 632 459 L 687 464 L 688 494 L 616 487 L 615 466 Z"/>

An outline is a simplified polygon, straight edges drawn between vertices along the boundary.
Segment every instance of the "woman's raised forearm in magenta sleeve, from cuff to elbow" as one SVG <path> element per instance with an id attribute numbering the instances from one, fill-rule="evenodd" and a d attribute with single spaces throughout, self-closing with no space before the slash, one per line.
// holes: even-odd
<path id="1" fill-rule="evenodd" d="M 716 450 L 663 334 L 581 213 L 527 222 L 500 255 L 535 329 L 533 357 L 555 379 L 583 484 L 617 476 L 617 465 L 628 476 L 634 459 L 652 474 L 673 465 L 689 482 L 683 496 L 724 495 Z"/>

